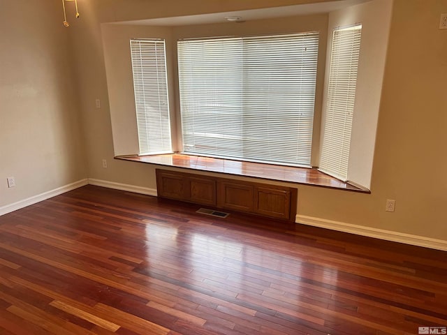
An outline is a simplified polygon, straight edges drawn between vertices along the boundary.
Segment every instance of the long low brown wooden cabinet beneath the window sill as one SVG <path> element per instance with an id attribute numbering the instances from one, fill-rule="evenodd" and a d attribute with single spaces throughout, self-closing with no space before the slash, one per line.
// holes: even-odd
<path id="1" fill-rule="evenodd" d="M 295 221 L 296 188 L 160 169 L 156 184 L 161 198 Z"/>

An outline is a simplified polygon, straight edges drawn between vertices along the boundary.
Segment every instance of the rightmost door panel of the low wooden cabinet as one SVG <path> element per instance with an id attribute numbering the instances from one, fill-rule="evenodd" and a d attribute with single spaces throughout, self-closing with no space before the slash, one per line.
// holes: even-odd
<path id="1" fill-rule="evenodd" d="M 291 191 L 278 188 L 255 188 L 254 211 L 273 218 L 290 217 Z"/>

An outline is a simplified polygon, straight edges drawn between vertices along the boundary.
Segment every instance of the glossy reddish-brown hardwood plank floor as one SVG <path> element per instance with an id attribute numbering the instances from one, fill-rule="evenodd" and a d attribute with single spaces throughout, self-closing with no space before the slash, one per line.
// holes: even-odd
<path id="1" fill-rule="evenodd" d="M 447 326 L 446 252 L 196 209 L 85 186 L 0 216 L 0 334 Z"/>

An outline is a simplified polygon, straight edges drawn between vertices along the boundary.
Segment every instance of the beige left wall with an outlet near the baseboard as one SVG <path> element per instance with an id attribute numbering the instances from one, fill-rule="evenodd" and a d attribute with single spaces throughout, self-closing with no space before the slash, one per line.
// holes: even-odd
<path id="1" fill-rule="evenodd" d="M 58 1 L 0 1 L 0 209 L 87 178 Z M 15 177 L 8 188 L 6 177 Z"/>

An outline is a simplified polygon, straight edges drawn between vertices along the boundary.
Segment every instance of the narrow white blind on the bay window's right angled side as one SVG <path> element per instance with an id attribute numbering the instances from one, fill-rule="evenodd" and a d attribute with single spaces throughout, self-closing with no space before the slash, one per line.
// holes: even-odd
<path id="1" fill-rule="evenodd" d="M 335 29 L 332 35 L 328 97 L 319 169 L 344 181 L 348 179 L 361 32 L 362 26 L 358 24 Z"/>

